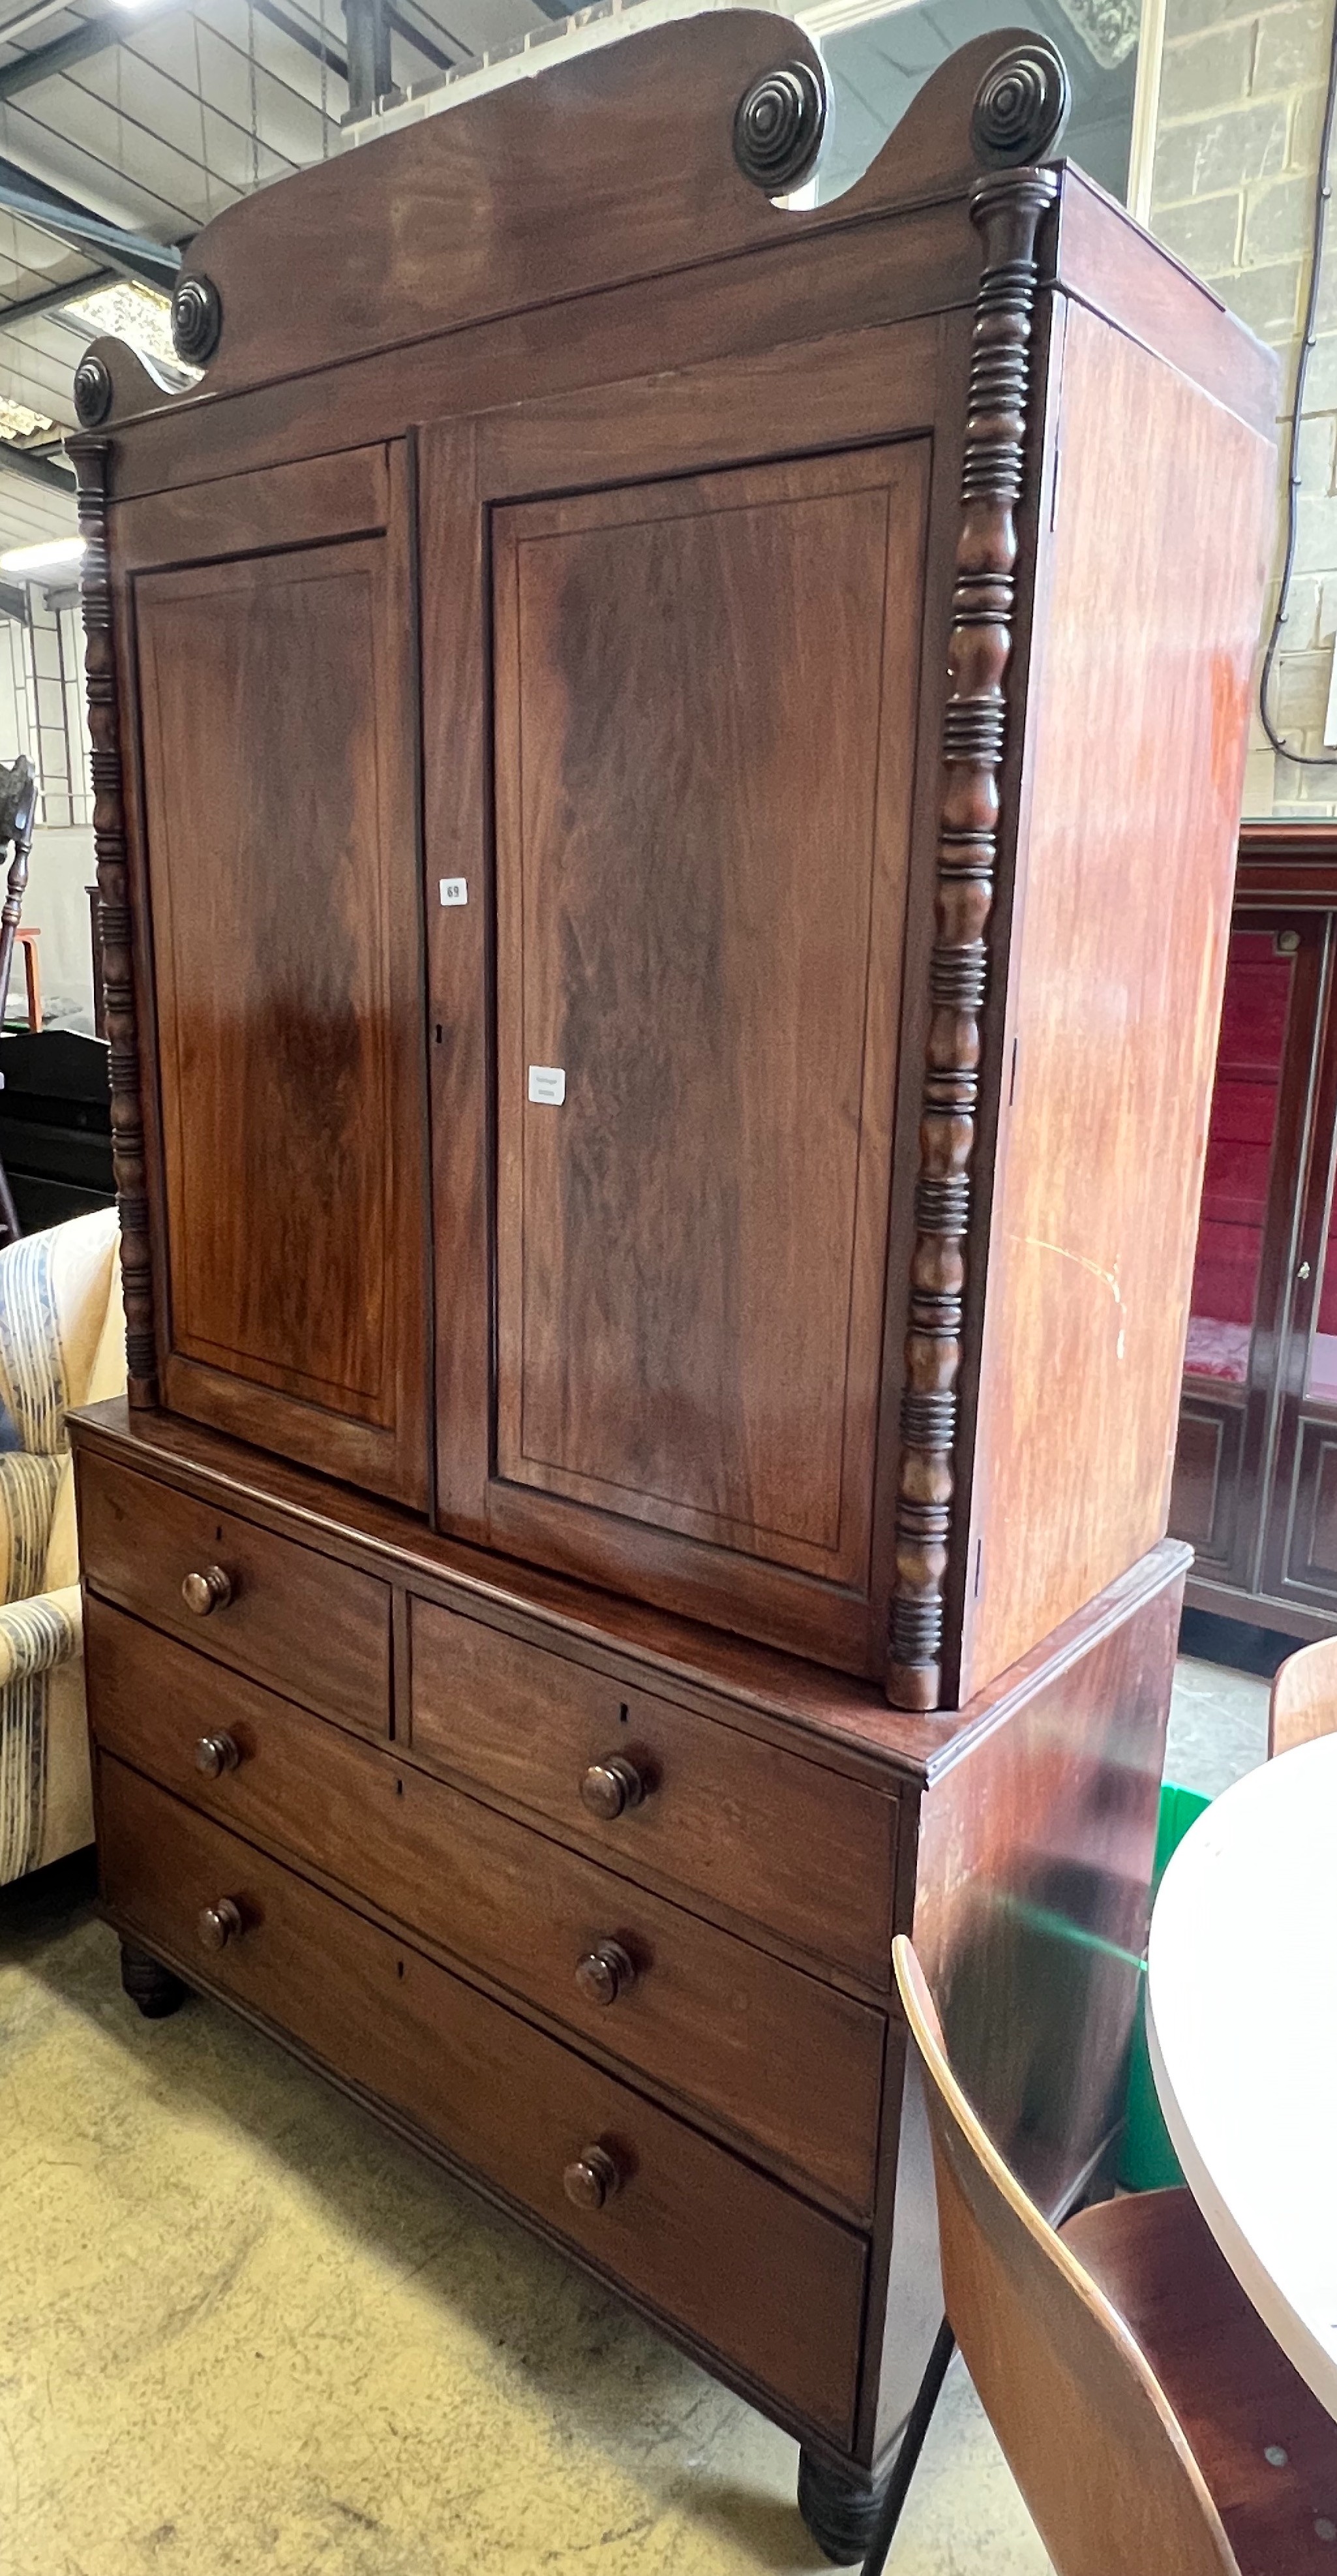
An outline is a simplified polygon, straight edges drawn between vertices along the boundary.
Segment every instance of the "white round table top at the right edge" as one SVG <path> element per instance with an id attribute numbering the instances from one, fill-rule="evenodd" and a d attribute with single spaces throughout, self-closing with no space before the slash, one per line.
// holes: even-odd
<path id="1" fill-rule="evenodd" d="M 1337 1736 L 1247 1772 L 1180 1842 L 1146 2045 L 1221 2254 L 1337 2416 Z"/>

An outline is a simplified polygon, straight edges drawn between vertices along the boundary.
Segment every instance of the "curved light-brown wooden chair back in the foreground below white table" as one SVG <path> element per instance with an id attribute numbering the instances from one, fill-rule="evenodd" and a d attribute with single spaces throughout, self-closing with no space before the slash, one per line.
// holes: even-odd
<path id="1" fill-rule="evenodd" d="M 1239 2576 L 1146 2357 L 979 2125 L 915 1950 L 896 1940 L 894 1955 L 925 2069 L 948 2321 L 1056 2576 Z"/>

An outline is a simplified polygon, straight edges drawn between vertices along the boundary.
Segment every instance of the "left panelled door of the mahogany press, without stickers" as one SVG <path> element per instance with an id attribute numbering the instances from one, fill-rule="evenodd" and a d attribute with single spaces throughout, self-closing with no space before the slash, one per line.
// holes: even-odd
<path id="1" fill-rule="evenodd" d="M 129 505 L 124 533 L 165 1401 L 425 1504 L 404 459 L 371 448 L 196 487 Z"/>

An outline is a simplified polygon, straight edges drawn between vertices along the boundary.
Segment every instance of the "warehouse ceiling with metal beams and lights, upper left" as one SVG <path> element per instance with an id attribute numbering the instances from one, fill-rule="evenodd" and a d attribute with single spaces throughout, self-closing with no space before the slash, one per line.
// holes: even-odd
<path id="1" fill-rule="evenodd" d="M 0 0 L 0 10 L 5 0 Z M 180 245 L 340 149 L 350 106 L 567 15 L 556 0 L 144 0 L 0 18 L 0 551 L 75 528 L 62 433 L 90 337 L 173 355 Z"/>

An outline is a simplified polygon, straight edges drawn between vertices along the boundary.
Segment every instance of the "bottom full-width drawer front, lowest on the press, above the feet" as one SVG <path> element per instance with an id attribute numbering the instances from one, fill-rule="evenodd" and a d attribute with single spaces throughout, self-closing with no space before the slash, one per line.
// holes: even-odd
<path id="1" fill-rule="evenodd" d="M 198 1963 L 783 2409 L 850 2439 L 860 2236 L 106 1754 L 100 1862 L 119 1924 Z M 201 1950 L 201 1911 L 224 1901 L 242 1929 Z M 569 2190 L 613 2187 L 577 2205 L 567 2174 Z"/>

